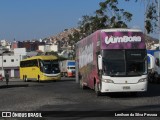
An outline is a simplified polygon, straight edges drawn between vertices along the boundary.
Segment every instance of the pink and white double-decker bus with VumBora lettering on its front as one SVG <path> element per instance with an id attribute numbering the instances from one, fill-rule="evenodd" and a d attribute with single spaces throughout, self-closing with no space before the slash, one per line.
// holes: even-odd
<path id="1" fill-rule="evenodd" d="M 107 92 L 147 91 L 147 52 L 137 29 L 103 29 L 76 44 L 76 81 Z"/>

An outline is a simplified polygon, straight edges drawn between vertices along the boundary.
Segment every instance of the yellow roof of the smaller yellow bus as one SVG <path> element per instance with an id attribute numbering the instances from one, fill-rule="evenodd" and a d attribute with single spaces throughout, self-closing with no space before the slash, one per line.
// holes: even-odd
<path id="1" fill-rule="evenodd" d="M 56 59 L 58 59 L 58 57 L 54 56 L 54 55 L 33 56 L 33 57 L 30 57 L 30 58 L 23 59 L 22 61 L 33 60 L 33 59 L 56 60 Z"/>

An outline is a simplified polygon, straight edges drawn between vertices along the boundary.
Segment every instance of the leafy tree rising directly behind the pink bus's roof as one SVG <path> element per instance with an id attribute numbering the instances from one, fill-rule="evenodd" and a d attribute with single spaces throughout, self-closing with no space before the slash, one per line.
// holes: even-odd
<path id="1" fill-rule="evenodd" d="M 99 6 L 94 16 L 82 16 L 78 23 L 82 38 L 98 29 L 127 28 L 127 22 L 132 20 L 131 13 L 117 7 L 118 0 L 105 0 Z"/>

